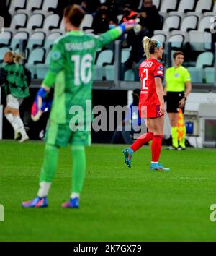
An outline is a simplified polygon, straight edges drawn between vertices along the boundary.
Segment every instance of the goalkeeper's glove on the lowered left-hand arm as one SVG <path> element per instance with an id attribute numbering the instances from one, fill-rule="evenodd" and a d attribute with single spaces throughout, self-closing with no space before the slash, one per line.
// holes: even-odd
<path id="1" fill-rule="evenodd" d="M 45 96 L 47 91 L 44 88 L 38 90 L 35 101 L 32 105 L 31 118 L 33 121 L 38 121 L 43 111 L 45 110 Z"/>

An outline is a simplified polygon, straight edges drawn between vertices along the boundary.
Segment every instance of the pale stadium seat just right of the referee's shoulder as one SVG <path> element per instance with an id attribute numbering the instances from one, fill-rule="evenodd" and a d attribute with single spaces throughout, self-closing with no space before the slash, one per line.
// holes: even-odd
<path id="1" fill-rule="evenodd" d="M 199 54 L 195 67 L 188 67 L 188 71 L 192 76 L 192 82 L 203 82 L 204 70 L 206 66 L 212 66 L 214 55 L 212 52 L 204 52 Z"/>

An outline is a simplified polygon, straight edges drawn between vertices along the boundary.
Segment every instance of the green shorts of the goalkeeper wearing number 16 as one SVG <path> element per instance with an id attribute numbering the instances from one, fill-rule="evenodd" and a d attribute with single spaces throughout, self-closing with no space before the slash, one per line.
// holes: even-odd
<path id="1" fill-rule="evenodd" d="M 91 132 L 72 132 L 69 124 L 56 124 L 50 121 L 45 134 L 45 141 L 50 145 L 66 147 L 66 145 L 91 145 Z"/>

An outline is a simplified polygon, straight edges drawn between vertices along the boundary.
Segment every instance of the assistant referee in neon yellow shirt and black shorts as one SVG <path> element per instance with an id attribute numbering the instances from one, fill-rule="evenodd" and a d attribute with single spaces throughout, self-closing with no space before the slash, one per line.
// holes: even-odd
<path id="1" fill-rule="evenodd" d="M 183 128 L 181 140 L 178 142 L 178 115 L 179 108 L 184 114 L 186 98 L 192 90 L 191 76 L 187 69 L 182 66 L 184 53 L 176 51 L 174 53 L 174 67 L 166 69 L 166 86 L 164 96 L 167 101 L 167 113 L 171 124 L 172 146 L 170 150 L 185 150 L 186 127 Z M 186 88 L 186 90 L 185 90 Z M 178 148 L 179 147 L 179 148 Z"/>

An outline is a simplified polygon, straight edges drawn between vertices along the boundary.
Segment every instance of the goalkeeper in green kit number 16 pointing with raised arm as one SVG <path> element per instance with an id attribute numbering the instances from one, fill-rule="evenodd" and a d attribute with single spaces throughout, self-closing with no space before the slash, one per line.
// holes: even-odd
<path id="1" fill-rule="evenodd" d="M 63 203 L 62 207 L 79 207 L 79 197 L 86 173 L 84 147 L 91 144 L 89 132 L 91 122 L 84 121 L 81 124 L 84 129 L 76 130 L 77 124 L 71 124 L 70 121 L 71 117 L 74 117 L 70 109 L 72 106 L 78 106 L 82 108 L 83 113 L 91 116 L 91 109 L 86 109 L 86 101 L 91 101 L 96 51 L 118 38 L 125 30 L 130 30 L 137 25 L 136 20 L 130 20 L 102 35 L 86 35 L 79 30 L 84 12 L 78 5 L 73 4 L 72 7 L 67 7 L 63 16 L 67 33 L 60 36 L 53 45 L 48 74 L 32 106 L 32 119 L 37 121 L 45 106 L 45 96 L 55 84 L 53 106 L 46 134 L 45 157 L 40 174 L 40 188 L 37 197 L 22 202 L 24 208 L 48 206 L 47 196 L 57 169 L 59 149 L 68 144 L 71 145 L 73 158 L 72 188 L 70 200 Z"/>

